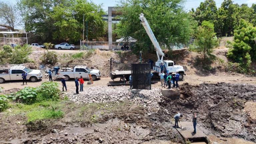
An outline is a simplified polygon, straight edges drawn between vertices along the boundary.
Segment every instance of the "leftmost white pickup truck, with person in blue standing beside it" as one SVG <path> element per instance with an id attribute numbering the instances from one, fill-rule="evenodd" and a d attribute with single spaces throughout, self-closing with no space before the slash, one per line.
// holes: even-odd
<path id="1" fill-rule="evenodd" d="M 25 66 L 13 66 L 10 69 L 0 70 L 0 83 L 9 80 L 22 80 L 22 73 L 27 73 L 27 79 L 31 82 L 36 82 L 43 77 L 41 70 L 29 69 Z"/>

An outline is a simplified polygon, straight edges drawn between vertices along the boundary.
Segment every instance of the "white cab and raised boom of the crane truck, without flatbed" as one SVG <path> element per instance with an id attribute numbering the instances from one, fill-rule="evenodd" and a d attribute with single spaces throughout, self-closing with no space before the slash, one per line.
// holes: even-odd
<path id="1" fill-rule="evenodd" d="M 155 37 L 153 31 L 151 30 L 151 28 L 150 28 L 150 26 L 148 24 L 148 21 L 144 17 L 143 13 L 140 14 L 139 19 L 140 19 L 141 24 L 145 28 L 145 30 L 146 30 L 150 40 L 152 41 L 152 43 L 153 43 L 153 45 L 155 47 L 155 50 L 156 50 L 157 62 L 155 62 L 155 66 L 153 67 L 153 69 L 157 70 L 158 72 L 160 72 L 159 68 L 157 68 L 157 67 L 160 67 L 161 63 L 164 63 L 164 66 L 166 67 L 166 70 L 167 70 L 168 73 L 176 73 L 176 72 L 178 72 L 180 74 L 179 79 L 182 80 L 183 76 L 186 75 L 185 74 L 185 70 L 183 69 L 183 66 L 176 65 L 174 63 L 174 61 L 172 61 L 172 60 L 163 60 L 163 57 L 168 57 L 168 55 L 163 53 L 163 51 L 162 51 L 159 43 L 157 42 L 156 37 Z"/>

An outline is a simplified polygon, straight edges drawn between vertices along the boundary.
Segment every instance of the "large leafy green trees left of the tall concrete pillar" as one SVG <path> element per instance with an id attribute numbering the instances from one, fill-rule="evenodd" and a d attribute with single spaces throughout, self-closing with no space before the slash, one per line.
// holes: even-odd
<path id="1" fill-rule="evenodd" d="M 32 41 L 78 42 L 82 39 L 84 14 L 90 39 L 102 36 L 106 23 L 102 21 L 105 13 L 101 5 L 87 0 L 18 0 L 17 8 L 25 31 L 35 33 Z"/>

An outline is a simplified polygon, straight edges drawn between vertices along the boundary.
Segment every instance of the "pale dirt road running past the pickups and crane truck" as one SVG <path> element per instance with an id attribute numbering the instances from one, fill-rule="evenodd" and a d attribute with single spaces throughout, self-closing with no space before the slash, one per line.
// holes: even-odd
<path id="1" fill-rule="evenodd" d="M 28 82 L 27 85 L 22 85 L 22 81 L 6 81 L 3 84 L 0 84 L 1 87 L 4 88 L 4 90 L 10 90 L 13 88 L 24 88 L 27 86 L 30 87 L 37 87 L 40 86 L 41 83 L 48 81 L 48 79 L 42 79 L 38 82 L 32 83 L 32 82 Z M 62 89 L 61 87 L 61 82 L 59 79 L 55 79 L 54 81 L 58 82 L 60 84 L 60 89 Z M 152 84 L 152 87 L 160 87 L 160 80 L 159 78 L 153 78 L 152 81 L 157 81 L 158 83 L 156 84 Z M 186 75 L 184 77 L 183 81 L 180 81 L 179 84 L 183 84 L 183 83 L 189 83 L 191 85 L 198 85 L 201 84 L 203 82 L 207 82 L 207 83 L 217 83 L 217 82 L 226 82 L 226 83 L 246 83 L 246 84 L 253 84 L 256 85 L 256 77 L 247 77 L 244 76 L 242 74 L 229 74 L 229 73 L 224 73 L 224 72 L 219 72 L 216 74 L 210 74 L 208 76 L 200 76 L 200 75 Z M 108 83 L 120 83 L 119 79 L 115 79 L 115 81 L 113 82 L 113 80 L 111 80 L 110 77 L 102 77 L 97 81 L 94 81 L 94 84 L 91 85 L 87 85 L 87 81 L 85 80 L 85 84 L 84 87 L 92 87 L 92 86 L 106 86 Z M 67 84 L 67 88 L 68 91 L 69 90 L 73 90 L 75 91 L 75 82 L 74 79 L 71 79 L 69 81 L 66 81 Z"/>

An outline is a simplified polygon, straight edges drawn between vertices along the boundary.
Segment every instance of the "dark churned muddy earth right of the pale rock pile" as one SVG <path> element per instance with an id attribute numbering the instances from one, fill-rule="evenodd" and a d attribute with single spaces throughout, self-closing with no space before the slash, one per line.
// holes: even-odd
<path id="1" fill-rule="evenodd" d="M 182 121 L 192 121 L 193 112 L 197 112 L 197 127 L 206 135 L 256 142 L 256 122 L 244 110 L 246 102 L 256 102 L 256 86 L 230 83 L 192 86 L 185 83 L 180 86 L 180 94 L 180 99 L 166 98 L 160 103 L 160 110 L 152 119 L 164 122 L 180 112 L 184 115 Z"/>

